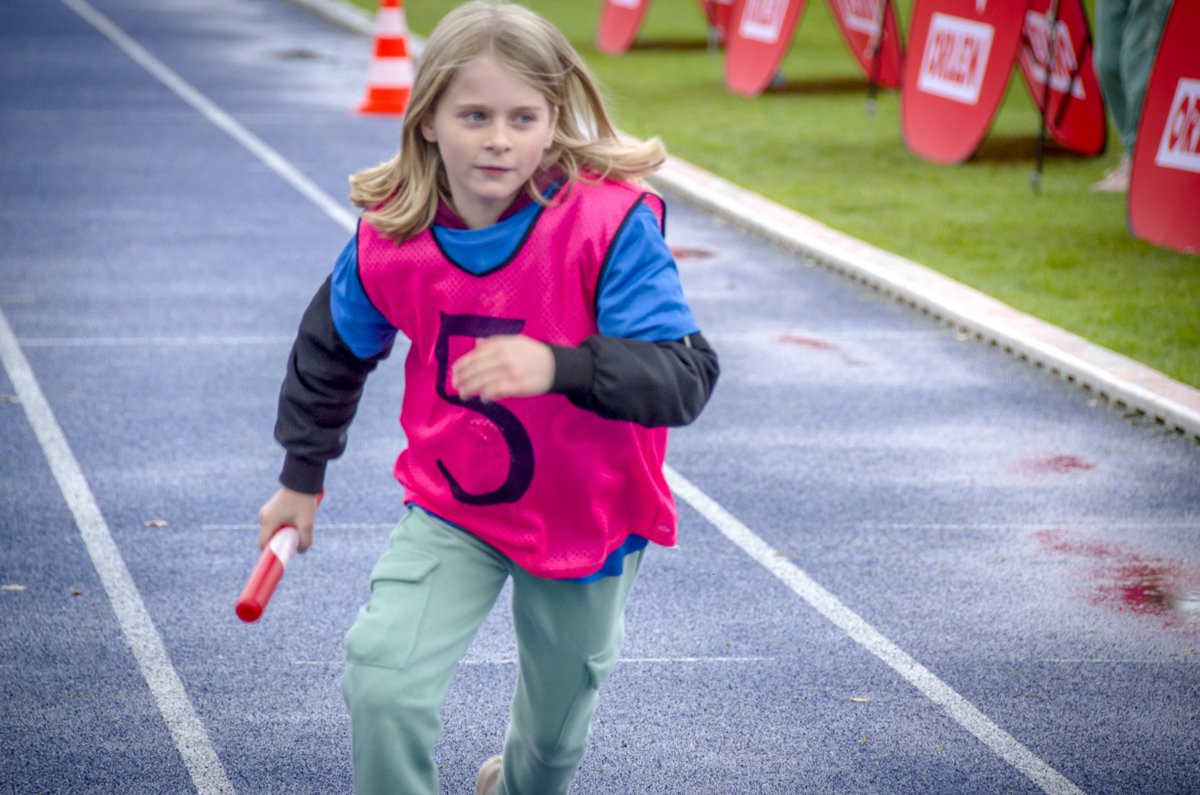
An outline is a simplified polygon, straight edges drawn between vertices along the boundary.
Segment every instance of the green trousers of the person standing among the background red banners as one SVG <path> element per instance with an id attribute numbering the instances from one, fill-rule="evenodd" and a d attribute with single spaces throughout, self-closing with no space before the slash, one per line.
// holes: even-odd
<path id="1" fill-rule="evenodd" d="M 1133 154 L 1146 83 L 1171 0 L 1097 0 L 1096 76 L 1121 148 Z"/>

